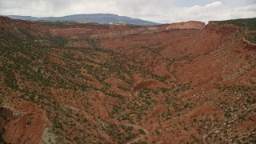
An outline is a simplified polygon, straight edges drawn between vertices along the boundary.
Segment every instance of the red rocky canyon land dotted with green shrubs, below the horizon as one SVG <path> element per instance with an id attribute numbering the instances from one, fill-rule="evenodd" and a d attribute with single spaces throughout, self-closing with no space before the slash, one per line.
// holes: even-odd
<path id="1" fill-rule="evenodd" d="M 255 143 L 255 28 L 0 17 L 0 143 Z"/>

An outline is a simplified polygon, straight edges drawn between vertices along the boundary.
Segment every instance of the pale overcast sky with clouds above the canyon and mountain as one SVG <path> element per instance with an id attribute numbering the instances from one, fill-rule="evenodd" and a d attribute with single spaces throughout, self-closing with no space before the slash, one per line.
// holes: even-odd
<path id="1" fill-rule="evenodd" d="M 110 13 L 154 22 L 256 17 L 256 0 L 0 0 L 2 15 Z"/>

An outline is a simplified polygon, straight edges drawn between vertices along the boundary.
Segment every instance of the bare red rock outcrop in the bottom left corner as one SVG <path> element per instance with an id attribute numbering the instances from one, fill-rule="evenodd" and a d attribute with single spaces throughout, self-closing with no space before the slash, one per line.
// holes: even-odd
<path id="1" fill-rule="evenodd" d="M 46 113 L 29 102 L 20 102 L 16 110 L 0 108 L 0 113 L 8 119 L 4 134 L 6 142 L 39 143 L 46 128 Z"/>

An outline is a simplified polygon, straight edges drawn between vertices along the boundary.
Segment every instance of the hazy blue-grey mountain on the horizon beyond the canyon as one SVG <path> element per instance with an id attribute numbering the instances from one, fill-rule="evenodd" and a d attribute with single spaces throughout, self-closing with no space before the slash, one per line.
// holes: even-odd
<path id="1" fill-rule="evenodd" d="M 125 22 L 133 25 L 140 25 L 140 26 L 150 26 L 150 25 L 158 25 L 159 23 L 156 22 L 149 22 L 144 21 L 138 18 L 130 18 L 126 16 L 118 16 L 117 14 L 75 14 L 75 15 L 68 15 L 63 17 L 30 17 L 30 16 L 20 16 L 20 15 L 7 15 L 9 18 L 13 19 L 22 19 L 28 21 L 87 21 L 87 22 L 97 22 L 100 24 L 105 23 L 118 23 L 118 22 Z"/>

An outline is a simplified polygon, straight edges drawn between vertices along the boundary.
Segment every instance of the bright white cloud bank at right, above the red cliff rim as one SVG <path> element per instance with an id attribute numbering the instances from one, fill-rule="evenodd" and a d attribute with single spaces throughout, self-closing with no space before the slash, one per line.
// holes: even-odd
<path id="1" fill-rule="evenodd" d="M 197 20 L 209 22 L 213 20 L 226 20 L 235 18 L 253 18 L 256 15 L 256 5 L 249 6 L 229 6 L 222 2 L 211 2 L 205 6 L 180 7 L 171 10 L 165 16 L 159 15 L 158 22 L 181 22 Z M 152 18 L 153 20 L 153 18 Z"/>

